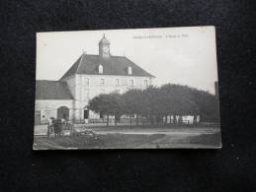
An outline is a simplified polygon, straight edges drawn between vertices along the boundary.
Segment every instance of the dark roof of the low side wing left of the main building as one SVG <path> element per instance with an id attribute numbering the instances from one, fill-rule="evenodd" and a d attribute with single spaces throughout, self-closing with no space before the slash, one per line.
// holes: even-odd
<path id="1" fill-rule="evenodd" d="M 37 80 L 36 99 L 73 99 L 66 83 Z"/>

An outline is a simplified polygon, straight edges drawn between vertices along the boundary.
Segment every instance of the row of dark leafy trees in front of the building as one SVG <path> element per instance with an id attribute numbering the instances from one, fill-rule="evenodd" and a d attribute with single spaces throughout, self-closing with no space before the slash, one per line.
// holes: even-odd
<path id="1" fill-rule="evenodd" d="M 89 108 L 97 113 L 115 116 L 115 125 L 121 115 L 127 114 L 130 119 L 136 114 L 136 125 L 139 118 L 147 118 L 151 124 L 166 124 L 163 119 L 173 116 L 174 124 L 179 122 L 176 116 L 200 115 L 201 121 L 218 122 L 218 100 L 216 96 L 188 86 L 166 84 L 160 88 L 148 87 L 146 90 L 129 90 L 127 93 L 104 94 L 95 96 L 89 102 Z"/>

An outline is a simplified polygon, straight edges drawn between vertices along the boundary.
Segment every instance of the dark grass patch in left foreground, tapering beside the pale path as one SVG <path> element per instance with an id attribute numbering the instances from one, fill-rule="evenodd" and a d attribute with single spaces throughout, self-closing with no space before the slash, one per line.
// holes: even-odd
<path id="1" fill-rule="evenodd" d="M 78 149 L 110 149 L 110 148 L 136 148 L 163 137 L 163 134 L 104 134 L 97 139 L 89 136 L 69 136 L 61 138 L 35 137 L 34 149 L 37 150 L 63 150 L 67 148 Z"/>

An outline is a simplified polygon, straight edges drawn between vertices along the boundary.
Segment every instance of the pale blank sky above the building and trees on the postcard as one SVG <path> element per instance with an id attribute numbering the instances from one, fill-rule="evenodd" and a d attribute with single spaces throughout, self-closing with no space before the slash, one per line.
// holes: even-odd
<path id="1" fill-rule="evenodd" d="M 180 84 L 214 94 L 214 27 L 37 33 L 37 80 L 58 80 L 79 58 L 99 54 L 105 33 L 111 54 L 126 56 L 155 76 L 154 85 Z"/>

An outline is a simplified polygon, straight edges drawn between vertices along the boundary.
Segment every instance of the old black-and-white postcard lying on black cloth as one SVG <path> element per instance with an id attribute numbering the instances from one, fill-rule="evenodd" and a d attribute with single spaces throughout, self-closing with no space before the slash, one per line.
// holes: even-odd
<path id="1" fill-rule="evenodd" d="M 221 148 L 215 35 L 37 32 L 33 149 Z"/>

